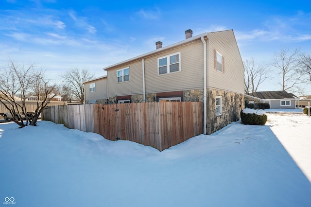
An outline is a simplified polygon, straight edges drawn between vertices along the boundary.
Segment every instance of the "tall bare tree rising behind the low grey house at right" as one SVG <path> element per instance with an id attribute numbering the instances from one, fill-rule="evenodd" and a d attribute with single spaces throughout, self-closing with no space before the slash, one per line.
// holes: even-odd
<path id="1" fill-rule="evenodd" d="M 303 75 L 299 73 L 302 55 L 299 49 L 290 52 L 288 48 L 283 48 L 279 53 L 275 53 L 272 66 L 278 70 L 278 74 L 282 77 L 280 84 L 283 91 L 300 90 L 299 84 L 305 83 L 302 80 Z"/>

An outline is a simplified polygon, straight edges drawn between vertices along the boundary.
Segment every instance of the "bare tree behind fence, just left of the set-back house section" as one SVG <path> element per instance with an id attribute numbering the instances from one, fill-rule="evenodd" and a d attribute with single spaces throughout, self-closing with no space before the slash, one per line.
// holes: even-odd
<path id="1" fill-rule="evenodd" d="M 90 74 L 87 69 L 74 68 L 69 69 L 61 77 L 64 79 L 64 84 L 69 87 L 73 95 L 83 104 L 85 94 L 83 82 L 91 80 L 94 74 Z"/>

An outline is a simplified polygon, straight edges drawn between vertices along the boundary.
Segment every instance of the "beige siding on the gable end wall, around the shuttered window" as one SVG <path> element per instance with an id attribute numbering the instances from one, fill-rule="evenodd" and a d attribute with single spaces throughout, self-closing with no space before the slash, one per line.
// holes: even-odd
<path id="1" fill-rule="evenodd" d="M 232 30 L 208 33 L 208 86 L 244 93 L 244 67 Z M 224 57 L 224 73 L 214 69 L 214 49 Z"/>

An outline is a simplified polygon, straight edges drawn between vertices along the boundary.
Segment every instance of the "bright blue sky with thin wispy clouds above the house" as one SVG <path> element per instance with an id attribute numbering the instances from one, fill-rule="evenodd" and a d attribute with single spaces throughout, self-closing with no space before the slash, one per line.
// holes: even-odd
<path id="1" fill-rule="evenodd" d="M 310 0 L 0 0 L 0 66 L 36 63 L 59 80 L 70 68 L 104 67 L 193 35 L 233 29 L 243 61 L 282 47 L 311 54 Z M 280 90 L 277 77 L 259 90 Z M 311 86 L 305 86 L 311 94 Z"/>

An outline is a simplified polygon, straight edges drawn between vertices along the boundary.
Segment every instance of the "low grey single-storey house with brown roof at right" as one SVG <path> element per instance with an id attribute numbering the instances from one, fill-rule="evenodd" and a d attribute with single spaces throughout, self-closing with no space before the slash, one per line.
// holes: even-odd
<path id="1" fill-rule="evenodd" d="M 293 93 L 286 91 L 260 91 L 246 94 L 248 96 L 248 103 L 254 104 L 254 102 L 268 103 L 270 108 L 295 108 L 295 102 L 298 98 Z"/>

